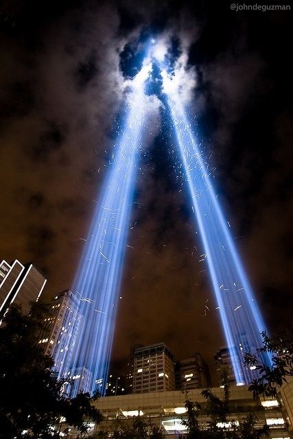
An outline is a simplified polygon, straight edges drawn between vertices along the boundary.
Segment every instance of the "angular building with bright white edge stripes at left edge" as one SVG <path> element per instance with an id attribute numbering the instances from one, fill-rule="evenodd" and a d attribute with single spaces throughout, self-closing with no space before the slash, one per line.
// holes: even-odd
<path id="1" fill-rule="evenodd" d="M 17 259 L 0 263 L 0 320 L 12 302 L 21 305 L 24 313 L 30 302 L 38 300 L 47 279 L 32 263 L 22 264 Z"/>

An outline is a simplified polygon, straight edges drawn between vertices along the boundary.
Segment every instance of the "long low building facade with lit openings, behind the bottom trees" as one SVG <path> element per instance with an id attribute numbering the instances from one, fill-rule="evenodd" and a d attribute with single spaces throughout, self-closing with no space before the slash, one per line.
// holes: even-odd
<path id="1" fill-rule="evenodd" d="M 212 391 L 218 398 L 223 398 L 221 388 L 213 388 Z M 205 400 L 201 390 L 190 390 L 188 396 L 191 401 L 198 402 L 204 407 Z M 107 437 L 111 437 L 119 425 L 132 423 L 134 416 L 143 416 L 146 421 L 151 418 L 152 424 L 162 427 L 166 437 L 170 439 L 178 438 L 179 434 L 187 433 L 187 427 L 181 423 L 187 416 L 185 394 L 180 391 L 107 396 L 97 399 L 95 405 L 102 412 L 104 421 L 99 425 L 93 424 L 91 426 L 92 434 L 104 431 L 108 435 Z M 248 391 L 247 385 L 231 386 L 229 408 L 228 421 L 222 425 L 219 423 L 219 428 L 229 429 L 231 423 L 237 425 L 253 412 L 257 414 L 255 427 L 261 428 L 265 424 L 268 425 L 270 439 L 290 439 L 278 401 L 253 399 L 253 394 Z M 211 422 L 208 411 L 200 414 L 198 421 L 202 429 L 208 428 L 209 422 Z M 71 431 L 70 434 L 72 437 L 76 436 L 74 431 Z"/>

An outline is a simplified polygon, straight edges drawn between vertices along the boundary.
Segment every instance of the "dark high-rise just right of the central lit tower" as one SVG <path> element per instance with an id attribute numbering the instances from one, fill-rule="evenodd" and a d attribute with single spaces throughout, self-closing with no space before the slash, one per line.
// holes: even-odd
<path id="1" fill-rule="evenodd" d="M 176 390 L 207 388 L 211 385 L 209 366 L 200 353 L 176 364 Z"/>

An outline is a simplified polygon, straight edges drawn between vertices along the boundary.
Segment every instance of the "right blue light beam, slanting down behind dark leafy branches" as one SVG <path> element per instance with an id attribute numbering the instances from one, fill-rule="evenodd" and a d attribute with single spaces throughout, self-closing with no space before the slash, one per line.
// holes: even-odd
<path id="1" fill-rule="evenodd" d="M 180 95 L 172 90 L 172 82 L 167 82 L 167 73 L 163 72 L 162 77 L 191 195 L 191 209 L 200 230 L 204 259 L 220 309 L 235 379 L 238 385 L 250 383 L 256 375 L 244 366 L 243 354 L 255 352 L 262 346 L 260 333 L 266 331 L 266 325 L 211 185 L 209 165 L 196 143 Z M 269 355 L 264 355 L 263 360 L 271 365 Z"/>

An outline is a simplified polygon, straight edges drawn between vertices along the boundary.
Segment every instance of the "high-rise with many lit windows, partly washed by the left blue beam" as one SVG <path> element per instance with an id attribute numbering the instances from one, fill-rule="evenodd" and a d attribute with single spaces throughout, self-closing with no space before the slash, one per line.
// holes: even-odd
<path id="1" fill-rule="evenodd" d="M 64 356 L 67 355 L 70 362 L 75 352 L 76 337 L 82 322 L 82 315 L 78 311 L 79 301 L 80 298 L 69 289 L 55 296 L 51 312 L 45 318 L 45 331 L 40 335 L 39 343 L 44 344 L 45 354 L 51 355 L 55 361 L 54 367 L 63 377 L 82 375 L 84 372 L 73 373 L 71 370 L 63 370 L 62 367 Z"/>

